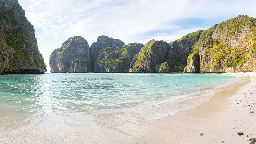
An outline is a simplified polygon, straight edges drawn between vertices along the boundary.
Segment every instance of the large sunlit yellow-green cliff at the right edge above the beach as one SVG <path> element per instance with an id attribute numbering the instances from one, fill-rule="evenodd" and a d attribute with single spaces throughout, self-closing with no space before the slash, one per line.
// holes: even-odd
<path id="1" fill-rule="evenodd" d="M 200 72 L 256 71 L 256 18 L 239 15 L 205 30 L 195 45 Z M 190 69 L 193 65 L 188 66 Z"/>

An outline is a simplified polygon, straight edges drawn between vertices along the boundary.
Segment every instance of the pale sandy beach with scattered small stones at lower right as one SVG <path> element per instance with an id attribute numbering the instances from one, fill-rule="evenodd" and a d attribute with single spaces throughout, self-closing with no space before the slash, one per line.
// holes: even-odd
<path id="1" fill-rule="evenodd" d="M 207 102 L 160 120 L 136 144 L 250 144 L 256 138 L 256 74 L 243 75 Z M 244 135 L 238 135 L 243 132 Z M 200 135 L 203 133 L 203 135 Z"/>

